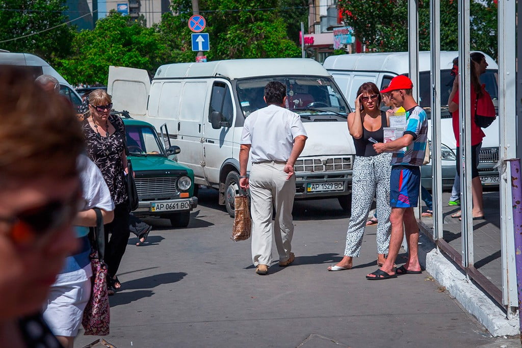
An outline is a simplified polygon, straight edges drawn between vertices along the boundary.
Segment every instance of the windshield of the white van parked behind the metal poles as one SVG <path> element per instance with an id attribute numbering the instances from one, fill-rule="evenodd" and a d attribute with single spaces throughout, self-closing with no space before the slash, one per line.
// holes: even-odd
<path id="1" fill-rule="evenodd" d="M 454 77 L 449 74 L 450 71 L 450 69 L 441 70 L 441 105 L 443 106 L 447 106 L 449 93 L 453 87 Z M 480 81 L 485 83 L 486 90 L 491 95 L 495 105 L 495 100 L 499 99 L 498 75 L 496 69 L 488 69 L 480 75 Z M 422 107 L 430 107 L 431 105 L 430 71 L 419 73 L 419 105 Z"/>

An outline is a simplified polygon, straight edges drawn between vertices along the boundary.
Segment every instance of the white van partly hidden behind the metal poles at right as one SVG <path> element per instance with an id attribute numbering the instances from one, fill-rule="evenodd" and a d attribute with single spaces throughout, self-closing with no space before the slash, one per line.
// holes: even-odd
<path id="1" fill-rule="evenodd" d="M 498 105 L 498 69 L 493 59 L 483 53 L 488 63 L 487 71 L 481 75 L 482 83 L 490 93 L 495 106 Z M 441 52 L 441 142 L 442 142 L 442 186 L 445 189 L 453 186 L 456 173 L 455 151 L 457 148 L 453 134 L 452 115 L 448 112 L 447 100 L 453 86 L 450 70 L 457 51 Z M 430 52 L 419 52 L 419 100 L 430 118 L 431 86 L 430 86 Z M 357 89 L 363 82 L 374 82 L 379 89 L 384 89 L 397 75 L 408 75 L 408 52 L 358 53 L 329 56 L 323 66 L 334 77 L 339 88 L 345 94 L 350 106 L 357 95 Z M 484 129 L 485 138 L 479 156 L 479 172 L 483 185 L 498 185 L 499 173 L 493 166 L 499 161 L 499 119 Z M 428 138 L 431 139 L 431 122 L 429 122 Z M 431 165 L 421 167 L 422 185 L 430 189 L 432 186 Z"/>

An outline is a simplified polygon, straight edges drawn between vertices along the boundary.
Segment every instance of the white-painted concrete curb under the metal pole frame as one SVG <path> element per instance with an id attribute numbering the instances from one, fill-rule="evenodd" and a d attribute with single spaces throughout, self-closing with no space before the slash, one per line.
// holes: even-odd
<path id="1" fill-rule="evenodd" d="M 499 308 L 474 283 L 466 279 L 466 275 L 452 261 L 437 250 L 426 235 L 432 233 L 429 227 L 419 223 L 419 259 L 421 266 L 432 277 L 446 287 L 446 290 L 471 315 L 473 315 L 494 337 L 518 335 L 518 316 L 507 319 Z M 424 263 L 424 265 L 422 265 Z"/>

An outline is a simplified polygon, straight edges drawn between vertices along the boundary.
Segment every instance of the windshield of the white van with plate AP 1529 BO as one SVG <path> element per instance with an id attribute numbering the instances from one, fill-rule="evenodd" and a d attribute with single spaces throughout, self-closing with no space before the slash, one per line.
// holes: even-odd
<path id="1" fill-rule="evenodd" d="M 287 108 L 301 115 L 303 122 L 346 121 L 350 108 L 329 77 L 264 77 L 243 79 L 237 83 L 243 115 L 266 106 L 265 86 L 279 81 L 287 87 Z"/>

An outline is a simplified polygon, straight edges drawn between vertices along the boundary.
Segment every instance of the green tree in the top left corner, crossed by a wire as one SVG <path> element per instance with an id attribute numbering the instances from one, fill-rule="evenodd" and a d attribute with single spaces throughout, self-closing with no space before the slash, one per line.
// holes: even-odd
<path id="1" fill-rule="evenodd" d="M 52 65 L 66 57 L 76 29 L 62 25 L 67 20 L 64 3 L 63 0 L 0 1 L 0 48 L 33 53 Z M 56 28 L 46 30 L 53 27 Z"/>

